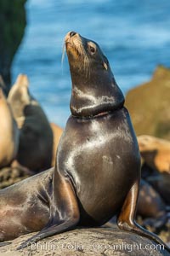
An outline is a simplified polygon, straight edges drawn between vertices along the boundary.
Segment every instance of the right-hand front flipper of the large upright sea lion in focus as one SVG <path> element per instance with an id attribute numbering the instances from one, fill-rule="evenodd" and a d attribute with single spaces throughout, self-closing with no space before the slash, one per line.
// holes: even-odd
<path id="1" fill-rule="evenodd" d="M 132 188 L 129 190 L 127 194 L 127 197 L 122 206 L 122 211 L 120 212 L 117 218 L 118 227 L 121 230 L 132 231 L 134 233 L 137 233 L 139 236 L 145 236 L 151 239 L 152 241 L 156 241 L 156 243 L 163 245 L 168 250 L 168 252 L 170 252 L 170 248 L 167 247 L 167 245 L 163 241 L 161 241 L 161 239 L 158 236 L 156 236 L 155 234 L 151 233 L 148 230 L 144 230 L 143 227 L 141 227 L 139 224 L 135 222 L 134 218 L 136 214 L 138 195 L 139 180 L 133 183 Z"/>

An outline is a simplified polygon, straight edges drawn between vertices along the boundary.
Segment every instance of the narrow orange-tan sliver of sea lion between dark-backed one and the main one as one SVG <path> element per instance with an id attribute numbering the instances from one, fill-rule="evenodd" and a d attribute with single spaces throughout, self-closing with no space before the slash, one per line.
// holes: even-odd
<path id="1" fill-rule="evenodd" d="M 53 157 L 52 157 L 51 166 L 54 166 L 57 147 L 58 147 L 59 139 L 61 137 L 63 130 L 58 125 L 55 125 L 54 123 L 50 123 L 50 125 L 51 125 L 51 129 L 53 131 Z"/>

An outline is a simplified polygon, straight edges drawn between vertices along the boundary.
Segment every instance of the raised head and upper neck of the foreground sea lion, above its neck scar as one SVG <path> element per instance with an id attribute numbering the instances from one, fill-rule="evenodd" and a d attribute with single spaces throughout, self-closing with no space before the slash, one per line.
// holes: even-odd
<path id="1" fill-rule="evenodd" d="M 65 47 L 72 80 L 71 113 L 89 117 L 122 108 L 124 96 L 99 45 L 68 32 Z"/>

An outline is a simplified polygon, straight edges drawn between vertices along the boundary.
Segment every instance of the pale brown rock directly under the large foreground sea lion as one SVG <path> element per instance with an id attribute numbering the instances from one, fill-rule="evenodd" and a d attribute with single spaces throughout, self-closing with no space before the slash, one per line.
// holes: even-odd
<path id="1" fill-rule="evenodd" d="M 144 237 L 109 228 L 72 230 L 16 251 L 16 247 L 31 236 L 20 236 L 10 245 L 0 247 L 0 255 L 170 255 L 167 250 L 160 249 L 160 245 Z"/>

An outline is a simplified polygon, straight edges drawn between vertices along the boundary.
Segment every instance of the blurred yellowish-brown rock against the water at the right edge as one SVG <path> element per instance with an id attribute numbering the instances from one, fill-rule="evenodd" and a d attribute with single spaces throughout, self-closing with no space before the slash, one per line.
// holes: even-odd
<path id="1" fill-rule="evenodd" d="M 129 90 L 126 106 L 138 136 L 170 140 L 170 69 L 157 67 L 150 82 Z"/>

